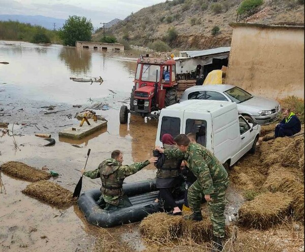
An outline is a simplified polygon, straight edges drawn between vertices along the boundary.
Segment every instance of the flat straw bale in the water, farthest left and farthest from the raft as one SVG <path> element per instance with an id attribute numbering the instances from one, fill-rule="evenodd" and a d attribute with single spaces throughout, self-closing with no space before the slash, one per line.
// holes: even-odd
<path id="1" fill-rule="evenodd" d="M 23 179 L 28 182 L 37 182 L 41 181 L 42 179 L 49 179 L 51 177 L 51 174 L 21 162 L 7 162 L 2 164 L 0 168 L 5 174 Z"/>

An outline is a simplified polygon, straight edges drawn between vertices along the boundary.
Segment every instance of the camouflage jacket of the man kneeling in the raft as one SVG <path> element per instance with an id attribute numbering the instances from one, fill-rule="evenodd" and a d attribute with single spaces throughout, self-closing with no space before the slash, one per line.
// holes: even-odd
<path id="1" fill-rule="evenodd" d="M 146 160 L 144 162 L 138 162 L 138 163 L 134 163 L 132 165 L 121 165 L 116 159 L 109 158 L 109 159 L 104 160 L 97 169 L 92 170 L 92 171 L 85 171 L 83 173 L 83 175 L 86 177 L 90 177 L 90 178 L 98 178 L 98 177 L 101 177 L 101 174 L 103 174 L 103 172 L 104 172 L 104 171 L 102 171 L 102 170 L 104 170 L 104 169 L 102 169 L 103 167 L 104 168 L 105 168 L 105 166 L 111 167 L 113 172 L 108 172 L 109 174 L 101 177 L 101 181 L 102 181 L 101 191 L 102 191 L 102 195 L 103 195 L 103 198 L 106 203 L 112 204 L 112 205 L 117 205 L 119 198 L 124 194 L 122 189 L 121 188 L 119 189 L 121 184 L 123 184 L 124 178 L 136 173 L 137 171 L 141 170 L 148 164 L 149 164 L 149 161 Z M 111 174 L 113 174 L 113 175 L 109 176 Z M 108 176 L 108 178 L 107 178 L 107 176 Z M 109 189 L 109 187 L 104 188 L 105 183 L 106 183 L 106 187 L 107 187 L 107 185 L 110 185 L 110 186 L 117 187 L 117 188 L 114 190 Z"/>

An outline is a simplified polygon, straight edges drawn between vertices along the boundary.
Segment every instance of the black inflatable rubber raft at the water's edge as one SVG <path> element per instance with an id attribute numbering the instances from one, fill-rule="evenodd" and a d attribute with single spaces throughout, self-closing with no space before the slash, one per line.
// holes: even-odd
<path id="1" fill-rule="evenodd" d="M 159 190 L 156 188 L 155 179 L 123 184 L 123 191 L 129 197 L 130 202 L 133 204 L 132 206 L 118 210 L 103 210 L 97 204 L 101 191 L 93 189 L 80 195 L 78 199 L 79 208 L 85 214 L 90 224 L 102 228 L 139 222 L 149 213 L 161 210 L 158 207 L 159 203 L 155 203 L 159 193 Z M 184 199 L 177 200 L 176 203 L 181 207 Z"/>

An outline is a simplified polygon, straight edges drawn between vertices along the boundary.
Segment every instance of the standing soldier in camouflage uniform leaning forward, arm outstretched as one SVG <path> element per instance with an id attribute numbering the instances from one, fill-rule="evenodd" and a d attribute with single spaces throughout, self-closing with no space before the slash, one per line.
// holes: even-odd
<path id="1" fill-rule="evenodd" d="M 193 213 L 189 219 L 201 221 L 201 198 L 208 203 L 210 220 L 213 225 L 214 250 L 221 251 L 222 239 L 225 236 L 225 194 L 229 184 L 228 173 L 220 161 L 208 149 L 198 143 L 191 143 L 185 134 L 174 138 L 177 149 L 163 150 L 156 147 L 167 158 L 183 157 L 197 180 L 189 188 L 188 201 Z"/>

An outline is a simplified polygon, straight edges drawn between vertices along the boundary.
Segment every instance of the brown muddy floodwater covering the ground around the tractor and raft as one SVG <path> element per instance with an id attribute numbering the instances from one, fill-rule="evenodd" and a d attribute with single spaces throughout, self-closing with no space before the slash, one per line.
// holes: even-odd
<path id="1" fill-rule="evenodd" d="M 73 192 L 89 148 L 88 170 L 97 168 L 115 149 L 123 151 L 125 164 L 151 157 L 157 121 L 132 116 L 128 124 L 120 125 L 118 120 L 120 106 L 129 103 L 139 54 L 0 41 L 0 61 L 9 62 L 0 64 L 0 122 L 9 123 L 8 129 L 14 133 L 0 132 L 0 164 L 20 161 L 38 169 L 46 167 L 59 173 L 51 181 Z M 100 76 L 101 84 L 69 79 Z M 60 130 L 79 123 L 74 119 L 77 112 L 97 102 L 109 107 L 97 112 L 108 121 L 107 128 L 80 140 L 58 137 Z M 76 104 L 82 106 L 73 107 Z M 45 107 L 50 105 L 59 112 L 45 115 Z M 55 146 L 43 147 L 47 142 L 36 133 L 51 134 Z M 149 165 L 126 182 L 155 175 L 156 169 Z M 59 210 L 30 198 L 21 193 L 28 182 L 3 173 L 0 184 L 0 251 L 92 250 L 99 229 L 86 223 L 77 206 Z M 100 179 L 83 178 L 82 191 L 99 187 Z M 234 211 L 234 207 L 230 209 Z M 141 250 L 136 226 L 126 229 L 108 231 L 123 240 L 133 239 L 134 249 Z"/>

